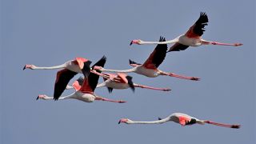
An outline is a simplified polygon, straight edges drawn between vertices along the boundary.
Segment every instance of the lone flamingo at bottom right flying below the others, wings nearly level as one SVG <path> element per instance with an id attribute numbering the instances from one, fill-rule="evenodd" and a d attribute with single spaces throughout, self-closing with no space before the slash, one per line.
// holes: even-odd
<path id="1" fill-rule="evenodd" d="M 149 122 L 132 121 L 128 118 L 121 118 L 118 124 L 120 124 L 121 122 L 126 124 L 161 124 L 169 121 L 179 123 L 181 126 L 193 125 L 196 123 L 200 125 L 204 125 L 205 123 L 208 123 L 215 126 L 224 126 L 224 127 L 234 128 L 234 129 L 240 128 L 240 125 L 229 125 L 229 124 L 223 124 L 218 122 L 212 122 L 208 120 L 199 120 L 198 118 L 194 118 L 188 114 L 182 114 L 182 113 L 170 114 L 170 116 L 168 116 L 167 118 L 163 118 L 163 119 L 158 118 L 158 121 L 149 121 Z"/>

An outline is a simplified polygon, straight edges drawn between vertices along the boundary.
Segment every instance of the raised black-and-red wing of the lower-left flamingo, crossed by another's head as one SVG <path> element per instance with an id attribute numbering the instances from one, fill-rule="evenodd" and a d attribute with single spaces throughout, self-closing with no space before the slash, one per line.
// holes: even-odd
<path id="1" fill-rule="evenodd" d="M 102 66 L 104 67 L 106 63 L 106 57 L 103 56 L 98 62 L 94 64 L 94 66 Z M 92 68 L 94 68 L 92 66 Z M 101 73 L 101 71 L 97 70 L 98 73 Z M 98 84 L 98 74 L 90 73 L 88 78 L 82 83 L 82 87 L 80 91 L 84 93 L 93 93 L 97 84 Z"/>

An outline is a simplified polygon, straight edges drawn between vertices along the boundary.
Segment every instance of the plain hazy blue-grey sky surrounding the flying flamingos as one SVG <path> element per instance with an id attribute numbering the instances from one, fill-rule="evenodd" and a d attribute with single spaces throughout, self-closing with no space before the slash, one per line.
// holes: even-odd
<path id="1" fill-rule="evenodd" d="M 0 143 L 255 143 L 255 10 L 254 0 L 2 0 Z M 124 104 L 36 101 L 38 94 L 53 94 L 58 70 L 22 70 L 27 63 L 55 66 L 75 57 L 94 63 L 104 54 L 106 68 L 128 69 L 129 58 L 144 62 L 155 47 L 129 46 L 130 40 L 175 38 L 201 11 L 210 21 L 203 38 L 244 45 L 191 47 L 167 54 L 159 66 L 200 82 L 130 74 L 134 82 L 170 92 L 95 90 Z M 150 121 L 174 112 L 242 128 L 118 125 L 119 118 Z"/>

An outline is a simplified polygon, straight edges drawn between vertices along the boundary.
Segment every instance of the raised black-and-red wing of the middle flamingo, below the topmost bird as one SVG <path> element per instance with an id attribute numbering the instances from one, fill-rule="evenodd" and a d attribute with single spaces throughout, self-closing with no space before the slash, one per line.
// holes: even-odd
<path id="1" fill-rule="evenodd" d="M 166 38 L 160 37 L 159 42 L 166 42 Z M 150 54 L 150 57 L 143 63 L 148 69 L 157 69 L 158 66 L 166 58 L 166 50 L 168 49 L 167 44 L 161 44 L 154 48 L 154 51 Z"/>

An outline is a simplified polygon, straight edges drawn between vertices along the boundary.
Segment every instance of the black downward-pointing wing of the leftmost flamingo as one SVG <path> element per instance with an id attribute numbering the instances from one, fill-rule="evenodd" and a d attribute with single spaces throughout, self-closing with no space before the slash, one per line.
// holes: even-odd
<path id="1" fill-rule="evenodd" d="M 66 89 L 66 85 L 70 82 L 70 79 L 73 78 L 75 74 L 77 73 L 67 69 L 58 71 L 54 85 L 54 100 L 58 100 L 63 91 Z"/>

